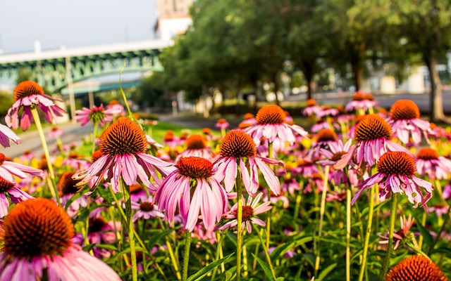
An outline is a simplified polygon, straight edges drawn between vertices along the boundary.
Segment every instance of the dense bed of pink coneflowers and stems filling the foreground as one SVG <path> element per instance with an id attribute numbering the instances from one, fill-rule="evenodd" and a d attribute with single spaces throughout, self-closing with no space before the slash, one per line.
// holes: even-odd
<path id="1" fill-rule="evenodd" d="M 307 277 L 317 278 L 328 268 L 325 238 L 341 208 L 346 214 L 340 221 L 345 226 L 342 280 L 371 277 L 375 263 L 385 280 L 446 280 L 431 251 L 439 241 L 450 241 L 445 230 L 451 184 L 442 188 L 441 182 L 450 178 L 451 160 L 440 156 L 440 145 L 451 135 L 420 119 L 411 100 L 397 101 L 390 112 L 362 92 L 345 107 L 307 100 L 302 113 L 313 124 L 311 134 L 278 105 L 264 105 L 255 117 L 245 115 L 236 129 L 219 119 L 215 127 L 221 133 L 206 128 L 176 136 L 168 131 L 163 145 L 114 100 L 76 111 L 74 119 L 82 126 L 94 126 L 85 138 L 87 149 L 61 143 L 63 131 L 54 127 L 48 138 L 56 138 L 57 147 L 49 151 L 39 110 L 53 123 L 66 112 L 32 81 L 19 84 L 14 98 L 6 124 L 26 130 L 35 122 L 45 153 L 39 161 L 32 152 L 15 161 L 0 154 L 0 280 L 137 280 L 152 270 L 157 279 L 187 280 L 188 266 L 194 264 L 192 240 L 196 247 L 206 249 L 203 243 L 208 243 L 216 251 L 197 259 L 201 269 L 194 275 L 228 276 L 224 263 L 233 255 L 233 278 L 248 277 L 258 262 L 268 279 L 276 280 L 287 276 L 282 256 L 303 259 L 310 250 Z M 10 140 L 20 143 L 8 126 L 0 125 L 4 147 Z M 435 204 L 428 207 L 431 198 Z M 335 215 L 329 214 L 331 206 Z M 421 221 L 402 212 L 396 230 L 400 211 L 411 207 L 424 209 Z M 425 228 L 428 211 L 439 218 L 441 232 L 435 238 Z M 283 222 L 287 216 L 288 225 Z M 383 220 L 389 221 L 388 229 L 381 228 L 387 226 Z M 420 233 L 410 229 L 415 223 Z M 303 228 L 313 229 L 308 243 L 294 238 Z M 156 231 L 166 234 L 152 240 Z M 377 235 L 375 245 L 371 237 Z M 185 243 L 183 266 L 178 239 Z M 425 239 L 434 239 L 427 253 Z M 234 246 L 227 247 L 225 240 Z M 369 255 L 376 247 L 385 249 L 385 259 Z M 402 247 L 421 256 L 389 272 L 397 259 L 393 253 Z M 164 263 L 171 264 L 171 273 Z"/>

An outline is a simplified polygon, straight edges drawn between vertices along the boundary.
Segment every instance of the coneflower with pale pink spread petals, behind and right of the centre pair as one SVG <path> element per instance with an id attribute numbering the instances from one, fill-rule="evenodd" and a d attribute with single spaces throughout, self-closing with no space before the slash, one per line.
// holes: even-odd
<path id="1" fill-rule="evenodd" d="M 279 138 L 280 141 L 290 144 L 295 143 L 297 135 L 307 138 L 307 131 L 301 126 L 286 124 L 285 117 L 285 112 L 278 105 L 264 105 L 257 112 L 257 125 L 249 127 L 245 132 L 254 138 L 257 145 L 260 144 L 261 138 L 266 138 L 269 143 Z"/>

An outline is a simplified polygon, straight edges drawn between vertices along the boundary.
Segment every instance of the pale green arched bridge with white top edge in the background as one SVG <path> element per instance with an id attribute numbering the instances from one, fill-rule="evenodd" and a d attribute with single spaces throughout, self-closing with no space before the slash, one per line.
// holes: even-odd
<path id="1" fill-rule="evenodd" d="M 68 93 L 70 111 L 74 114 L 74 82 L 116 74 L 121 70 L 162 71 L 158 54 L 171 44 L 169 40 L 156 39 L 50 51 L 37 48 L 30 53 L 0 55 L 0 81 L 14 81 L 18 73 L 25 70 L 49 91 Z M 65 88 L 67 91 L 62 91 Z"/>

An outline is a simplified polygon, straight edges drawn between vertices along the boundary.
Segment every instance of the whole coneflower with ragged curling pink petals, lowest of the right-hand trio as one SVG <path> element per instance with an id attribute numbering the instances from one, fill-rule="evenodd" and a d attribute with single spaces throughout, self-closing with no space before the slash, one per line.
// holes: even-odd
<path id="1" fill-rule="evenodd" d="M 432 197 L 433 187 L 431 183 L 414 176 L 416 167 L 412 156 L 406 152 L 385 152 L 378 161 L 377 170 L 376 174 L 359 185 L 359 191 L 352 198 L 352 204 L 357 201 L 364 190 L 379 183 L 381 199 L 387 199 L 392 195 L 392 192 L 400 194 L 405 192 L 409 202 L 415 204 L 414 208 L 421 203 L 421 207 L 427 211 L 426 202 Z M 425 195 L 421 192 L 420 187 L 424 189 Z"/>

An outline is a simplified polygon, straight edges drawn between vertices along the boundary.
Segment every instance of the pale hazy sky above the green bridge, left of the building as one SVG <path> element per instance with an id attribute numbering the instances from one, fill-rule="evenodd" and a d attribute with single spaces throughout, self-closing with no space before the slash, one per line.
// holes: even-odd
<path id="1" fill-rule="evenodd" d="M 0 0 L 6 53 L 153 39 L 156 0 Z M 125 32 L 125 29 L 128 32 Z"/>

